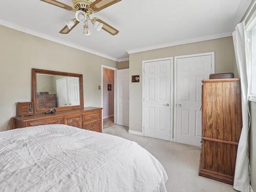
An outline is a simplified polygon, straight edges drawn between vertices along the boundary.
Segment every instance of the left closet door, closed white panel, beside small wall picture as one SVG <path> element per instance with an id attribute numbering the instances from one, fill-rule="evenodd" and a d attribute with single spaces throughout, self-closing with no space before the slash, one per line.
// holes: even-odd
<path id="1" fill-rule="evenodd" d="M 144 135 L 170 140 L 171 60 L 144 63 Z"/>

